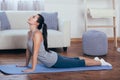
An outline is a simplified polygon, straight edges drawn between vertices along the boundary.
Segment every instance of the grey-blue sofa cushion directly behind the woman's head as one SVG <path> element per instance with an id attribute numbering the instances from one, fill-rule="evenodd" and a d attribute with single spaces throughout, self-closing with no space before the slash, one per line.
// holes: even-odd
<path id="1" fill-rule="evenodd" d="M 57 12 L 42 12 L 41 15 L 45 19 L 48 29 L 58 30 L 58 13 Z"/>

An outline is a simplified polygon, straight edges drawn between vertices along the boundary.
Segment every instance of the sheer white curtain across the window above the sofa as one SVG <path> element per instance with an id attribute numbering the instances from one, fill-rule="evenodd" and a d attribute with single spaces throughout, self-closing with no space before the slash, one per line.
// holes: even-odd
<path id="1" fill-rule="evenodd" d="M 0 10 L 44 10 L 44 0 L 0 0 Z"/>

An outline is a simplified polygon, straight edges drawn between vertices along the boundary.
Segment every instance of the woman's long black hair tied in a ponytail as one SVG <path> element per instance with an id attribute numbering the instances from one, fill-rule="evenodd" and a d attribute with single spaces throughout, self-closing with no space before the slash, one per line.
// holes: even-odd
<path id="1" fill-rule="evenodd" d="M 43 34 L 43 39 L 44 39 L 44 47 L 45 47 L 45 50 L 47 52 L 49 52 L 49 49 L 48 49 L 48 43 L 47 43 L 47 25 L 44 23 L 44 17 L 40 14 L 38 14 L 39 18 L 37 20 L 37 22 L 39 23 L 38 25 L 38 29 L 41 30 L 42 29 L 42 34 Z"/>

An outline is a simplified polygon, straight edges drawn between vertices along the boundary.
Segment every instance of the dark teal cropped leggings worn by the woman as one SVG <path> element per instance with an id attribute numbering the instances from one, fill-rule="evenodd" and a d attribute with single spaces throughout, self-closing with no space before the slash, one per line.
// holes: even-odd
<path id="1" fill-rule="evenodd" d="M 85 60 L 79 59 L 79 57 L 70 58 L 58 55 L 58 60 L 52 67 L 54 68 L 85 67 Z"/>

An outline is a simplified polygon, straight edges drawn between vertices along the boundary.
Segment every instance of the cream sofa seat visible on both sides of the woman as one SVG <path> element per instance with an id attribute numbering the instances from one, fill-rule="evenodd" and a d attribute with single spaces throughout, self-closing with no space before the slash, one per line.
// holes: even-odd
<path id="1" fill-rule="evenodd" d="M 0 31 L 0 49 L 22 49 L 26 48 L 28 30 L 3 30 Z M 63 33 L 48 29 L 48 47 L 57 48 L 64 45 Z M 5 45 L 6 44 L 6 45 Z M 59 46 L 58 46 L 59 45 Z"/>

